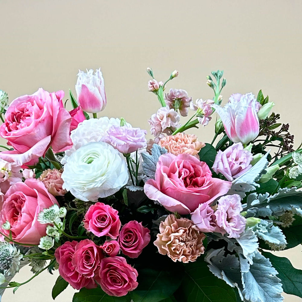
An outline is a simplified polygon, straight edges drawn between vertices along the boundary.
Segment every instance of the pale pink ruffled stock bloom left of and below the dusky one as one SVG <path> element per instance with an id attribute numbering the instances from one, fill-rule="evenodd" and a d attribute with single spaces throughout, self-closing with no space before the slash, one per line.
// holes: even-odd
<path id="1" fill-rule="evenodd" d="M 148 120 L 151 126 L 151 133 L 158 137 L 161 133 L 172 134 L 179 126 L 179 114 L 170 109 L 169 106 L 159 108 L 157 113 L 152 114 Z"/>

